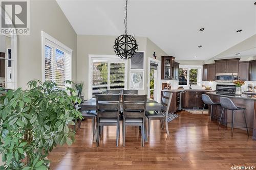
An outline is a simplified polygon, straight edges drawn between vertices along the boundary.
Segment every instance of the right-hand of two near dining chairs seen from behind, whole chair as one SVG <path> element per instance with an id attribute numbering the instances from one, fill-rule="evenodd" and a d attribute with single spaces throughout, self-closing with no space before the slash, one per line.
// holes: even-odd
<path id="1" fill-rule="evenodd" d="M 144 124 L 147 95 L 123 95 L 123 146 L 126 126 L 141 127 L 141 143 L 144 147 Z"/>

